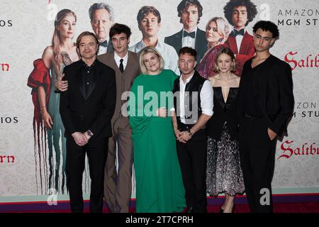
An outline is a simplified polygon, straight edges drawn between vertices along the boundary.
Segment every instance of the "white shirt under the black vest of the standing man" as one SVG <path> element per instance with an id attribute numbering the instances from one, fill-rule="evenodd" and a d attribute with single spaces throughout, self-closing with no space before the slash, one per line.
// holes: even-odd
<path id="1" fill-rule="evenodd" d="M 191 78 L 193 78 L 193 75 L 194 75 L 194 72 L 191 75 L 191 77 L 189 77 L 189 79 L 186 79 L 186 83 L 184 83 L 183 79 L 179 77 L 179 110 L 180 110 L 179 114 L 181 117 L 181 123 L 186 122 L 185 113 L 184 113 L 184 106 L 186 105 L 184 101 L 185 87 L 186 87 L 186 84 L 191 80 Z M 201 96 L 202 114 L 213 116 L 213 87 L 211 87 L 211 82 L 209 82 L 208 79 L 206 79 L 206 81 L 203 83 L 203 87 L 201 88 L 201 93 L 199 95 Z M 187 108 L 187 106 L 185 107 Z"/>

